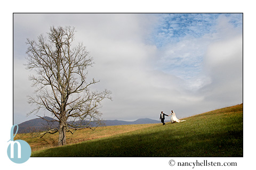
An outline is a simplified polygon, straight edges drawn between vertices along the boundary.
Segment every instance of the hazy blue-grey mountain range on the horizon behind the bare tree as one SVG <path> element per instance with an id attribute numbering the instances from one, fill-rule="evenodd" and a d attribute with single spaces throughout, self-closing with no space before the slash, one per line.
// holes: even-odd
<path id="1" fill-rule="evenodd" d="M 51 117 L 43 117 L 45 120 L 54 121 L 54 118 Z M 48 122 L 42 118 L 34 118 L 32 120 L 23 122 L 18 124 L 19 130 L 18 133 L 30 133 L 30 132 L 38 132 L 45 131 L 49 128 L 58 128 L 58 122 Z M 75 122 L 76 123 L 76 122 Z M 159 121 L 152 120 L 150 118 L 139 118 L 136 121 L 118 121 L 118 120 L 104 120 L 103 126 L 115 126 L 115 125 L 129 125 L 129 124 L 153 124 L 160 123 Z M 92 126 L 95 126 L 96 123 L 92 122 Z M 102 126 L 102 125 L 101 125 Z"/>

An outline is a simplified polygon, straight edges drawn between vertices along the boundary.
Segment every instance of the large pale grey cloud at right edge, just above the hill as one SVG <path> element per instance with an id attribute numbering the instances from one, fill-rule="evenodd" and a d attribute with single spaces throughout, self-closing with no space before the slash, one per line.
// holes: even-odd
<path id="1" fill-rule="evenodd" d="M 243 98 L 243 37 L 218 41 L 207 50 L 205 69 L 211 83 L 203 88 L 211 102 L 226 105 Z"/>

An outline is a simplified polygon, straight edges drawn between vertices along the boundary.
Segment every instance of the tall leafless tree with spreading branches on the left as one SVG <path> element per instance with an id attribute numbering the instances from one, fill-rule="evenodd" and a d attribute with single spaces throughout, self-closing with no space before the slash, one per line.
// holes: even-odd
<path id="1" fill-rule="evenodd" d="M 99 82 L 94 78 L 86 81 L 87 67 L 92 66 L 93 58 L 82 43 L 71 48 L 74 32 L 73 27 L 51 27 L 48 39 L 42 34 L 38 41 L 27 39 L 26 42 L 27 69 L 36 71 L 29 77 L 36 87 L 36 95 L 30 96 L 28 103 L 37 107 L 29 114 L 46 109 L 57 118 L 59 128 L 45 133 L 59 132 L 59 146 L 66 145 L 66 132 L 90 128 L 90 121 L 100 120 L 101 101 L 111 99 L 109 90 L 90 89 Z M 75 120 L 83 124 L 70 123 Z"/>

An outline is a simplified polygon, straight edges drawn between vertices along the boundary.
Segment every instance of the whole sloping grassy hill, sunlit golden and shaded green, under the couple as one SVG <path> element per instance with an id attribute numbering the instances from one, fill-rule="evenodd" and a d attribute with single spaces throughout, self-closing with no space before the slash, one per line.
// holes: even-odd
<path id="1" fill-rule="evenodd" d="M 26 134 L 22 140 L 27 138 L 32 157 L 243 157 L 243 104 L 184 119 L 164 126 L 159 122 L 77 131 L 68 137 L 71 144 L 62 147 L 49 148 L 58 135 L 32 139 Z M 36 147 L 40 140 L 49 149 Z"/>

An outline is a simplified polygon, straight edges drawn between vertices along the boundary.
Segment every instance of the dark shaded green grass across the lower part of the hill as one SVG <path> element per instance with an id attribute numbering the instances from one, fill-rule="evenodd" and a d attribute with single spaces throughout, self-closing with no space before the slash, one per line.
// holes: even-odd
<path id="1" fill-rule="evenodd" d="M 170 124 L 171 125 L 171 124 Z M 243 157 L 243 131 L 199 133 L 159 130 L 51 148 L 47 157 Z M 161 129 L 161 128 L 160 128 Z M 161 133 L 159 133 L 159 131 Z M 197 133 L 197 132 L 196 132 Z"/>

